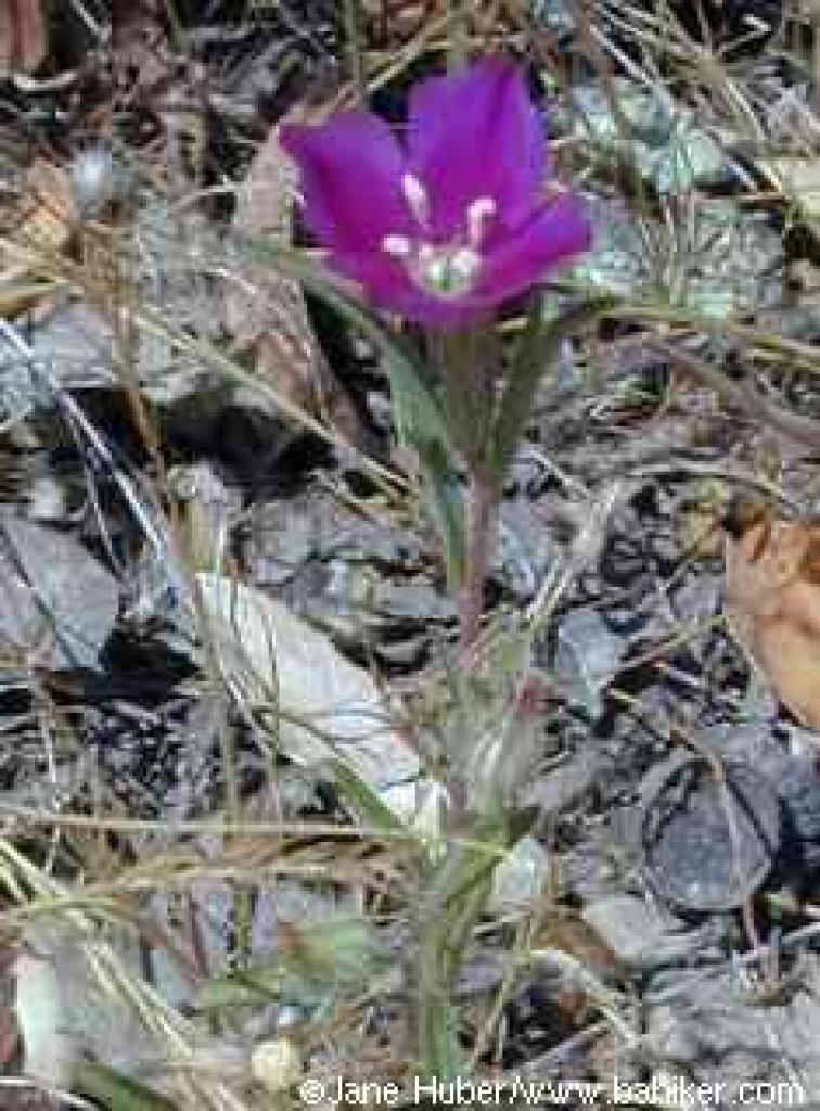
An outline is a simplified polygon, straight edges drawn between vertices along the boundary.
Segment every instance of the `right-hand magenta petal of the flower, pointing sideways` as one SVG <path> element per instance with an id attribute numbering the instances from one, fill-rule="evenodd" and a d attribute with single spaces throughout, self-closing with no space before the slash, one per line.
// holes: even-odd
<path id="1" fill-rule="evenodd" d="M 558 262 L 586 251 L 591 241 L 583 202 L 563 193 L 488 252 L 473 296 L 488 303 L 516 297 Z"/>

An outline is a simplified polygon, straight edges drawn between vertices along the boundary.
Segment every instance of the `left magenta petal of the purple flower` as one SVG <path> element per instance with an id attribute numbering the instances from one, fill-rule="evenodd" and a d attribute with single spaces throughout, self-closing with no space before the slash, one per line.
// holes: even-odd
<path id="1" fill-rule="evenodd" d="M 410 230 L 404 154 L 378 117 L 344 112 L 321 127 L 286 124 L 279 142 L 299 166 L 304 219 L 326 247 L 377 250 L 384 236 Z"/>

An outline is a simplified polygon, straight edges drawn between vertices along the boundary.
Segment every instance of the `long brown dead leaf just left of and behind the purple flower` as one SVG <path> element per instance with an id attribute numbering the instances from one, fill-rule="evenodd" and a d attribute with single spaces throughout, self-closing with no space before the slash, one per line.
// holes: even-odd
<path id="1" fill-rule="evenodd" d="M 296 168 L 274 127 L 238 190 L 233 226 L 249 239 L 291 243 Z M 250 351 L 257 374 L 289 402 L 329 419 L 344 439 L 364 447 L 366 434 L 313 334 L 301 287 L 270 267 L 248 263 L 242 283 L 227 294 L 228 327 L 240 351 Z"/>

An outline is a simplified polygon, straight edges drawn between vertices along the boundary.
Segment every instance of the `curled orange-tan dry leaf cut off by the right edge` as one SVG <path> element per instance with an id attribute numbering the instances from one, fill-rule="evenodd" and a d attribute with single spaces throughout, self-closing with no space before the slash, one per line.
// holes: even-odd
<path id="1" fill-rule="evenodd" d="M 820 522 L 764 509 L 726 540 L 727 617 L 796 718 L 820 729 Z"/>

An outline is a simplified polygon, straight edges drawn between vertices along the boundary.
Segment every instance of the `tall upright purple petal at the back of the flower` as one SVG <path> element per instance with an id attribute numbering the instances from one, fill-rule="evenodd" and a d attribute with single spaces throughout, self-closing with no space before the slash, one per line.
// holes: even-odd
<path id="1" fill-rule="evenodd" d="M 514 226 L 531 211 L 547 172 L 543 127 L 519 70 L 488 58 L 410 93 L 407 144 L 428 188 L 437 238 L 462 231 L 477 197 Z"/>

